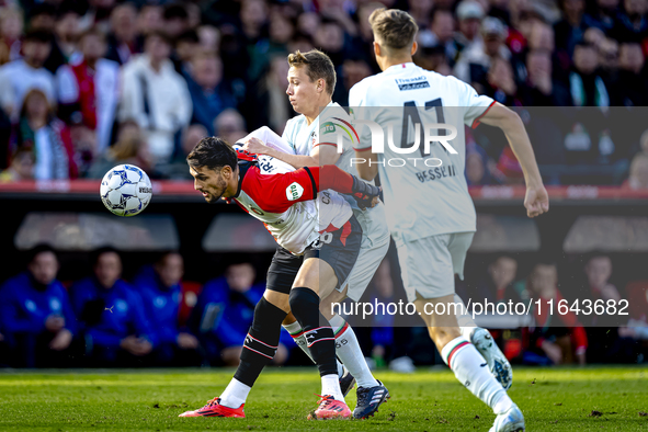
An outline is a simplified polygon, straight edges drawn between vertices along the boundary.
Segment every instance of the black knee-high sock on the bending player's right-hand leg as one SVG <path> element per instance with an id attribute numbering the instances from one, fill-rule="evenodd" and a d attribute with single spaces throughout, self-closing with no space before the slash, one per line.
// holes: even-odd
<path id="1" fill-rule="evenodd" d="M 336 337 L 329 321 L 319 311 L 319 296 L 310 288 L 296 287 L 291 289 L 289 303 L 291 311 L 302 326 L 319 375 L 337 375 Z"/>

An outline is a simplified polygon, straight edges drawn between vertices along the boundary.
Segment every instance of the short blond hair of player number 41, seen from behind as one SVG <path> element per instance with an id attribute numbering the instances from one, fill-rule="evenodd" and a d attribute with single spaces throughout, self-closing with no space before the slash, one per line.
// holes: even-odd
<path id="1" fill-rule="evenodd" d="M 414 19 L 398 9 L 376 9 L 370 15 L 370 24 L 376 42 L 388 50 L 411 47 L 419 31 Z"/>

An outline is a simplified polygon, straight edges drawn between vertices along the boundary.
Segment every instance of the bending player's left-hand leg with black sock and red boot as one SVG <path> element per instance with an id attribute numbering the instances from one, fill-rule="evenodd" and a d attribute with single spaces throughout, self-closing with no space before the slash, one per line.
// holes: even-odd
<path id="1" fill-rule="evenodd" d="M 254 318 L 243 342 L 239 366 L 220 397 L 180 417 L 245 417 L 243 406 L 254 382 L 278 346 L 281 323 L 289 311 L 289 297 L 302 259 L 277 249 L 268 270 L 266 289 L 254 308 Z"/>

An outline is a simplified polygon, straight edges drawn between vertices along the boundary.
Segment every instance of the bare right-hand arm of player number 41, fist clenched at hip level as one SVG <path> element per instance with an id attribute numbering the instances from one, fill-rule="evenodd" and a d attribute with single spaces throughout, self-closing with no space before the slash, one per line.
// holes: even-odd
<path id="1" fill-rule="evenodd" d="M 543 185 L 533 147 L 531 147 L 528 135 L 518 113 L 496 102 L 480 118 L 480 122 L 502 129 L 518 161 L 520 161 L 526 183 L 524 207 L 526 207 L 528 217 L 539 216 L 548 212 L 549 195 Z"/>

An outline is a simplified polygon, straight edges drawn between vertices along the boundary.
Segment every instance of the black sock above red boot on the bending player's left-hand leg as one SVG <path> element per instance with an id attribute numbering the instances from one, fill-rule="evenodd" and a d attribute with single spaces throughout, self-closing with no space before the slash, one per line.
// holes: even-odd
<path id="1" fill-rule="evenodd" d="M 278 346 L 281 325 L 286 317 L 278 307 L 261 298 L 254 308 L 254 320 L 246 336 L 241 363 L 234 377 L 252 387 L 263 371 L 263 367 L 272 361 Z"/>

